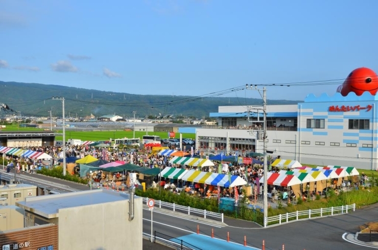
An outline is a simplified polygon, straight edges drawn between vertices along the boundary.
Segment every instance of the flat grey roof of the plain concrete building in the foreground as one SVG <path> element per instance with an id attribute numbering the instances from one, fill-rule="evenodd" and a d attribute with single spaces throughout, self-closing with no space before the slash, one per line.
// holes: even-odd
<path id="1" fill-rule="evenodd" d="M 32 211 L 45 218 L 52 219 L 59 217 L 59 209 L 128 200 L 129 198 L 130 195 L 125 192 L 95 189 L 73 193 L 27 197 L 25 201 L 16 202 L 16 206 L 27 211 Z M 135 196 L 135 198 L 140 197 Z"/>

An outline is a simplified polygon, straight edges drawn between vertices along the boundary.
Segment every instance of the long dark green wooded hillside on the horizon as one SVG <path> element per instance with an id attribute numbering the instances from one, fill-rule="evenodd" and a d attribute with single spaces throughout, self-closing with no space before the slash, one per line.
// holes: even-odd
<path id="1" fill-rule="evenodd" d="M 85 117 L 91 113 L 96 117 L 118 115 L 135 118 L 173 115 L 175 117 L 208 117 L 217 112 L 218 106 L 262 105 L 262 99 L 235 97 L 191 97 L 133 95 L 106 92 L 95 89 L 46 85 L 38 83 L 0 81 L 0 103 L 28 116 L 62 115 L 62 104 L 52 97 L 64 97 L 66 117 Z M 268 100 L 269 105 L 297 104 L 300 101 Z M 5 111 L 0 111 L 4 115 Z M 160 113 L 160 115 L 159 115 Z"/>

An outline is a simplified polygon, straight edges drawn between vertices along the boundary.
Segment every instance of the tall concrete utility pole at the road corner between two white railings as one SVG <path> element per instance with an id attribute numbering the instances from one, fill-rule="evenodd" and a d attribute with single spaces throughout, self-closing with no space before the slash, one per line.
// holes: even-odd
<path id="1" fill-rule="evenodd" d="M 248 86 L 246 84 L 246 89 L 256 89 L 260 96 L 263 98 L 263 112 L 264 112 L 264 125 L 263 125 L 263 150 L 264 150 L 264 227 L 266 226 L 266 221 L 268 218 L 268 156 L 267 156 L 267 89 L 263 87 L 263 95 L 261 95 L 260 90 L 257 89 L 257 85 L 252 84 Z M 259 109 L 259 108 L 256 108 Z M 260 108 L 261 109 L 261 108 Z M 248 109 L 249 117 L 249 109 Z M 257 142 L 257 138 L 256 138 Z"/>

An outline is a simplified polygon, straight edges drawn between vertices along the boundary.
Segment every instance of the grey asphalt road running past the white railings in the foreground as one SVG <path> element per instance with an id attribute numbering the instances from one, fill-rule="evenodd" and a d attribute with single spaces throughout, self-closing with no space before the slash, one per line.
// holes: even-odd
<path id="1" fill-rule="evenodd" d="M 1 173 L 3 174 L 3 172 Z M 78 190 L 88 190 L 89 187 L 79 185 L 70 181 L 64 181 L 39 174 L 21 174 L 20 177 L 29 179 L 39 178 L 45 183 L 59 183 L 62 186 L 72 187 Z M 143 211 L 143 232 L 145 235 L 151 234 L 151 212 L 149 210 Z M 229 233 L 230 242 L 237 243 L 227 245 L 228 249 L 236 249 L 237 246 L 244 244 L 244 236 L 246 236 L 247 246 L 261 249 L 262 242 L 265 240 L 265 249 L 267 250 L 281 250 L 282 245 L 285 249 L 306 249 L 306 250 L 335 250 L 335 249 L 366 249 L 366 246 L 352 244 L 343 239 L 343 234 L 359 232 L 359 225 L 368 221 L 376 221 L 378 218 L 378 204 L 373 204 L 366 208 L 356 210 L 355 212 L 337 215 L 333 217 L 324 217 L 321 219 L 302 220 L 272 226 L 269 228 L 261 228 L 253 222 L 225 219 L 227 225 L 220 225 L 218 222 L 211 220 L 199 220 L 198 217 L 184 216 L 183 214 L 175 213 L 167 215 L 159 213 L 157 210 L 153 212 L 153 230 L 161 234 L 167 235 L 171 238 L 182 238 L 190 241 L 195 246 L 204 247 L 205 243 L 202 239 L 194 238 L 191 235 L 197 235 L 197 225 L 199 225 L 200 235 L 211 238 L 211 229 L 214 230 L 214 238 L 219 239 L 221 244 L 224 244 L 227 239 L 227 232 Z M 145 250 L 155 249 L 163 250 L 170 249 L 169 247 L 158 245 L 157 243 L 150 243 L 144 240 Z M 215 244 L 216 245 L 216 244 Z M 248 249 L 249 247 L 245 247 Z M 206 247 L 209 250 L 211 247 Z M 223 247 L 218 247 L 221 249 Z M 378 248 L 378 247 L 377 247 Z M 204 249 L 204 248 L 203 248 Z"/>

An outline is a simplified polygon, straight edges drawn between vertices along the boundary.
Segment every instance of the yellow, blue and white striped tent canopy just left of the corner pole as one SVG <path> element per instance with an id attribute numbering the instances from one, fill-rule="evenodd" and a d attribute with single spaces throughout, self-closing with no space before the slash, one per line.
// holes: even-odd
<path id="1" fill-rule="evenodd" d="M 231 183 L 229 180 L 230 178 L 231 178 Z M 235 187 L 235 186 L 242 186 L 242 185 L 247 184 L 247 181 L 244 180 L 239 175 L 231 175 L 230 177 L 228 177 L 227 174 L 202 172 L 202 171 L 197 171 L 193 169 L 189 170 L 184 176 L 182 176 L 182 180 L 192 181 L 194 183 L 220 186 L 220 187 Z"/>

